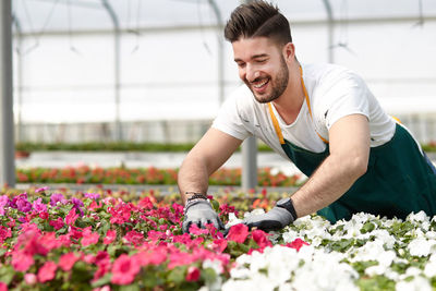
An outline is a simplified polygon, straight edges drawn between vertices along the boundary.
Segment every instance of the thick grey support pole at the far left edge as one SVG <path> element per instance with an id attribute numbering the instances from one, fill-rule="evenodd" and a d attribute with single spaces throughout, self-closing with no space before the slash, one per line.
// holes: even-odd
<path id="1" fill-rule="evenodd" d="M 11 0 L 0 1 L 0 183 L 15 186 Z"/>

